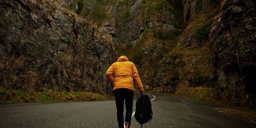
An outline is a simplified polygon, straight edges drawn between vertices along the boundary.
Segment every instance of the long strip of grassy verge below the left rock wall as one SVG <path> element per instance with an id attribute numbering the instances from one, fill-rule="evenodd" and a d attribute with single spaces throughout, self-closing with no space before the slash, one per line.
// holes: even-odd
<path id="1" fill-rule="evenodd" d="M 114 97 L 92 92 L 33 92 L 27 90 L 0 90 L 0 104 L 94 101 L 108 99 L 114 99 Z"/>

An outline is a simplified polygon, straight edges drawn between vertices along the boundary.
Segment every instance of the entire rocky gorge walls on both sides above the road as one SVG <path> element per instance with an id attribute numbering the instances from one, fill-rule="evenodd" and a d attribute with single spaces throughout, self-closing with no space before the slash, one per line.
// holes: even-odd
<path id="1" fill-rule="evenodd" d="M 111 93 L 126 55 L 146 90 L 218 88 L 256 107 L 254 0 L 1 0 L 0 89 Z"/>

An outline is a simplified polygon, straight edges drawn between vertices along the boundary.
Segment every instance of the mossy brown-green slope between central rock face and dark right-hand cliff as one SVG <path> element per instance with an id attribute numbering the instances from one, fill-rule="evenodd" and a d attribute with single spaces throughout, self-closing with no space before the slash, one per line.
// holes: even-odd
<path id="1" fill-rule="evenodd" d="M 175 93 L 181 87 L 215 86 L 217 75 L 211 62 L 207 38 L 210 29 L 203 29 L 201 34 L 198 28 L 211 27 L 211 18 L 219 6 L 203 0 L 200 3 L 202 6 L 198 7 L 195 1 L 183 1 L 186 28 L 180 33 L 177 47 L 170 50 L 160 62 L 154 77 L 156 92 Z M 196 9 L 201 11 L 195 12 Z"/>

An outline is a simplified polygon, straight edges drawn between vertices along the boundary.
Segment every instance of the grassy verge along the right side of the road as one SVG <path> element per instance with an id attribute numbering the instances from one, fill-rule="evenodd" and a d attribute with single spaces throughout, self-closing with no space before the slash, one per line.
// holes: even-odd
<path id="1" fill-rule="evenodd" d="M 209 103 L 218 105 L 214 109 L 233 116 L 237 119 L 241 119 L 246 122 L 256 124 L 256 109 L 249 109 L 244 107 L 230 106 L 218 99 L 218 88 L 212 87 L 182 87 L 175 95 L 187 97 L 189 99 L 196 100 L 198 102 Z M 223 106 L 223 107 L 221 107 Z"/>

